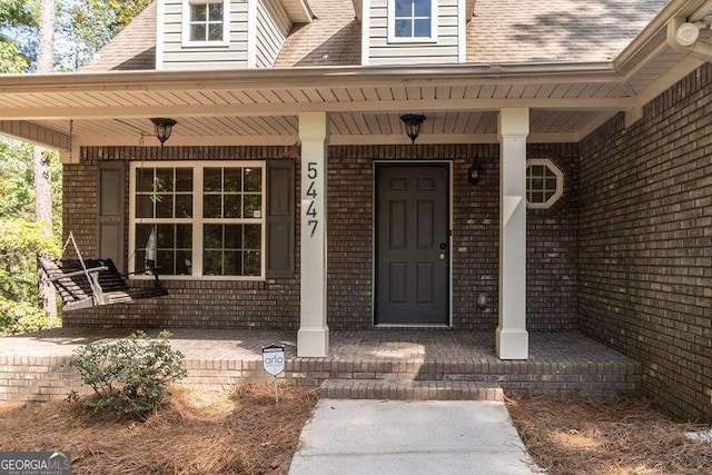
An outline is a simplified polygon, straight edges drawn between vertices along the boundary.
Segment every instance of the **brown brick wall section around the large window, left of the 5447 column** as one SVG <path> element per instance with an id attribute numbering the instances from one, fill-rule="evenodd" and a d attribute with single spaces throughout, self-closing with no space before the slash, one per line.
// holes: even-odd
<path id="1" fill-rule="evenodd" d="M 158 147 L 82 149 L 79 165 L 65 166 L 65 232 L 75 232 L 85 257 L 99 257 L 96 256 L 98 160 L 264 160 L 279 159 L 284 152 L 283 147 L 166 147 L 162 151 Z M 298 172 L 297 169 L 297 176 Z M 128 186 L 128 170 L 126 182 Z M 127 224 L 128 200 L 127 189 Z M 298 268 L 298 232 L 296 239 Z M 128 226 L 125 241 L 128 243 Z M 66 256 L 75 258 L 72 253 Z M 125 257 L 128 261 L 128 250 Z M 298 328 L 298 279 L 164 280 L 164 285 L 169 291 L 166 297 L 65 313 L 63 324 L 161 328 Z"/>

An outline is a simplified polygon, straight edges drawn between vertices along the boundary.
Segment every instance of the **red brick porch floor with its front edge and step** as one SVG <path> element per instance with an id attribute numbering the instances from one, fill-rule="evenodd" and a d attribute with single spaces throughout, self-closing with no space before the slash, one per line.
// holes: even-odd
<path id="1" fill-rule="evenodd" d="M 62 365 L 80 345 L 128 330 L 61 328 L 0 338 L 0 402 L 63 398 L 79 389 Z M 155 331 L 150 331 L 155 335 Z M 572 333 L 530 333 L 530 359 L 502 362 L 494 333 L 333 330 L 326 358 L 297 358 L 296 331 L 176 329 L 186 384 L 224 389 L 263 377 L 261 346 L 285 346 L 286 372 L 298 384 L 322 384 L 327 397 L 498 399 L 505 392 L 604 396 L 640 392 L 641 365 Z"/>

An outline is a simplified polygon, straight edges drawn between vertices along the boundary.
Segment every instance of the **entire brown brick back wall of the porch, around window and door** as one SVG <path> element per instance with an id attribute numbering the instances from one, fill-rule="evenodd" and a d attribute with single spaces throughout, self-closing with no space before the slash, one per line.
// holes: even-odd
<path id="1" fill-rule="evenodd" d="M 281 147 L 88 148 L 79 165 L 65 167 L 65 230 L 73 230 L 86 257 L 96 257 L 98 160 L 197 160 L 280 158 Z M 565 196 L 551 210 L 527 214 L 527 325 L 536 330 L 577 328 L 575 146 L 531 146 L 565 171 Z M 373 286 L 373 167 L 379 160 L 444 159 L 453 164 L 453 324 L 455 329 L 494 330 L 497 325 L 498 147 L 339 146 L 328 165 L 328 325 L 369 328 Z M 476 160 L 481 181 L 471 186 Z M 298 177 L 298 170 L 297 170 Z M 127 176 L 128 184 L 128 176 Z M 299 190 L 297 187 L 297 195 Z M 299 200 L 297 199 L 297 202 Z M 126 196 L 128 222 L 128 192 Z M 298 226 L 298 222 L 297 222 Z M 297 277 L 298 277 L 297 232 Z M 128 229 L 126 236 L 128 243 Z M 128 257 L 128 256 L 127 256 Z M 65 314 L 67 326 L 200 328 L 298 327 L 299 283 L 166 280 L 169 296 L 130 305 Z M 490 296 L 478 308 L 477 296 Z"/>

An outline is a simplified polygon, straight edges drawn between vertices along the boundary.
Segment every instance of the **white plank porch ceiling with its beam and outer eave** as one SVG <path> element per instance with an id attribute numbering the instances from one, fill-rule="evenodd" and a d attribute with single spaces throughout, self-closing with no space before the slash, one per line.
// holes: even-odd
<path id="1" fill-rule="evenodd" d="M 75 155 L 157 145 L 148 119 L 170 117 L 170 146 L 291 145 L 300 112 L 327 111 L 332 144 L 407 144 L 399 115 L 418 112 L 427 117 L 421 144 L 496 142 L 497 111 L 527 107 L 530 141 L 580 141 L 616 112 L 635 120 L 702 65 L 668 44 L 665 24 L 712 12 L 712 1 L 681 4 L 612 62 L 6 76 L 0 133 Z"/>

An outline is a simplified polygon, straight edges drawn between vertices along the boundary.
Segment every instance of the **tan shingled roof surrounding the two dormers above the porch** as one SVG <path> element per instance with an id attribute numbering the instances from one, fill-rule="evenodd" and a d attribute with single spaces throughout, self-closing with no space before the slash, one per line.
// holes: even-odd
<path id="1" fill-rule="evenodd" d="M 610 61 L 668 0 L 477 0 L 467 24 L 467 62 Z M 295 24 L 275 67 L 360 65 L 352 0 L 309 0 L 315 19 Z M 156 68 L 156 2 L 83 71 Z"/>

